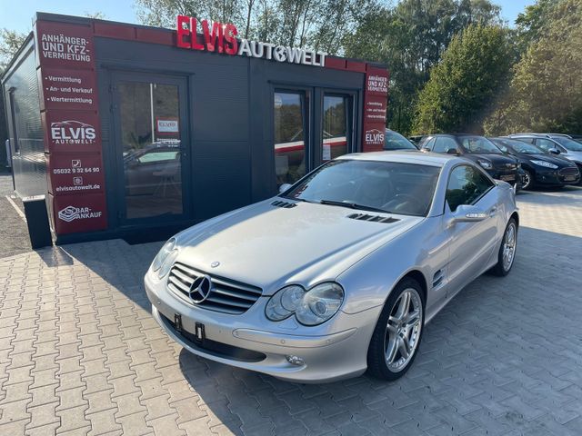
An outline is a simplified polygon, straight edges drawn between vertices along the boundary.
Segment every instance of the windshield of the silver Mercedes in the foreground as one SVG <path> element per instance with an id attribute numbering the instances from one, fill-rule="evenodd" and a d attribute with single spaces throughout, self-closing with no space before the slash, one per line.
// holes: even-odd
<path id="1" fill-rule="evenodd" d="M 416 163 L 342 159 L 297 183 L 287 198 L 368 211 L 425 216 L 440 168 Z"/>

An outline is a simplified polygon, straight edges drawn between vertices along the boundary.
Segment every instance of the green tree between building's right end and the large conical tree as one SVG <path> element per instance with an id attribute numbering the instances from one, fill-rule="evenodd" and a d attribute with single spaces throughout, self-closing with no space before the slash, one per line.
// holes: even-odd
<path id="1" fill-rule="evenodd" d="M 410 133 L 417 94 L 453 36 L 467 25 L 500 24 L 499 12 L 488 0 L 402 0 L 360 18 L 346 54 L 388 66 L 390 128 Z"/>

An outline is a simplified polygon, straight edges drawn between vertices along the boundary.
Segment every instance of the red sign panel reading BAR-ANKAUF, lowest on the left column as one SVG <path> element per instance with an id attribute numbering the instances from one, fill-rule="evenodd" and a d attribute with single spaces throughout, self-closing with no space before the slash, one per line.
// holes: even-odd
<path id="1" fill-rule="evenodd" d="M 101 193 L 49 194 L 49 201 L 57 234 L 94 232 L 107 228 L 105 195 Z"/>

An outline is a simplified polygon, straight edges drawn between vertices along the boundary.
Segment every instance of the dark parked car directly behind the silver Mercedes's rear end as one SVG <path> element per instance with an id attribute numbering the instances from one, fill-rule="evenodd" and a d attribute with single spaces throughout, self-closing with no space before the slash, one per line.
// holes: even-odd
<path id="1" fill-rule="evenodd" d="M 521 189 L 521 176 L 517 158 L 503 154 L 485 136 L 476 134 L 430 134 L 420 145 L 422 150 L 458 154 L 478 163 L 491 177 L 513 184 Z"/>

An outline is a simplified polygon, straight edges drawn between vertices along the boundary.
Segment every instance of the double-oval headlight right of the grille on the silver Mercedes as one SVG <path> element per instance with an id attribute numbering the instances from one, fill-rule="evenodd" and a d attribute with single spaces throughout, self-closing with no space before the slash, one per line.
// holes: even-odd
<path id="1" fill-rule="evenodd" d="M 298 322 L 317 325 L 334 316 L 343 301 L 344 289 L 336 282 L 320 283 L 308 291 L 294 284 L 271 297 L 265 314 L 271 321 L 282 321 L 295 314 Z"/>

